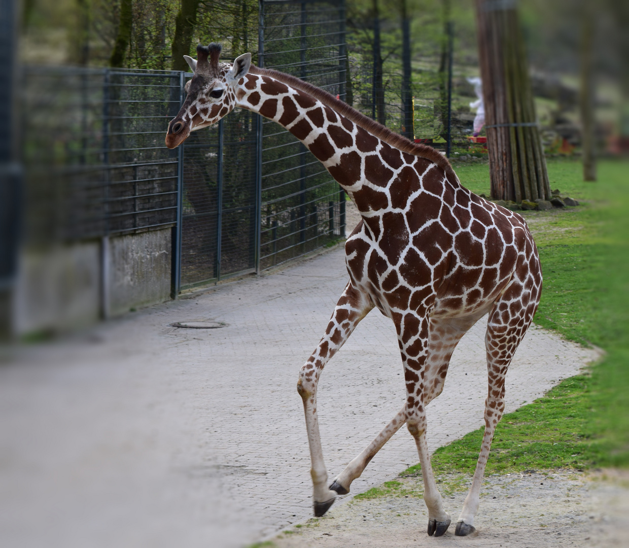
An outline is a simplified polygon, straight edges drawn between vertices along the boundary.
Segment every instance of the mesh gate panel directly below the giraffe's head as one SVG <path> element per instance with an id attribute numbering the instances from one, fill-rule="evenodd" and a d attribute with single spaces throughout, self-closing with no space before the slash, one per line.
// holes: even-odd
<path id="1" fill-rule="evenodd" d="M 181 287 L 256 269 L 257 125 L 233 111 L 183 152 Z"/>

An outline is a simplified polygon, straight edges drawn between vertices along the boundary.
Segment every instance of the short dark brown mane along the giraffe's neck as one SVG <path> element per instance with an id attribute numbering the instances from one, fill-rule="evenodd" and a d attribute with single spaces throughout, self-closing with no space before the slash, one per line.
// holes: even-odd
<path id="1" fill-rule="evenodd" d="M 440 152 L 437 152 L 437 150 L 432 147 L 428 147 L 427 145 L 413 143 L 406 137 L 399 135 L 399 133 L 394 133 L 394 131 L 389 130 L 389 128 L 384 127 L 377 121 L 368 118 L 355 108 L 349 106 L 347 103 L 343 103 L 340 99 L 335 98 L 335 96 L 331 95 L 327 91 L 323 91 L 320 87 L 313 86 L 313 84 L 304 82 L 303 80 L 300 80 L 295 76 L 291 76 L 290 74 L 284 74 L 284 72 L 279 72 L 278 70 L 273 69 L 262 69 L 260 67 L 256 67 L 255 65 L 251 65 L 249 72 L 251 74 L 270 76 L 280 82 L 283 82 L 284 84 L 294 87 L 295 89 L 299 89 L 299 91 L 308 93 L 315 99 L 321 101 L 321 103 L 329 106 L 338 114 L 345 116 L 348 120 L 353 121 L 356 125 L 369 131 L 372 135 L 375 135 L 382 141 L 389 143 L 392 147 L 395 147 L 402 152 L 408 152 L 408 154 L 413 154 L 414 156 L 430 160 L 441 167 L 446 174 L 454 176 L 455 181 L 459 180 L 454 172 L 454 169 L 452 169 L 452 165 L 448 162 L 448 159 L 440 154 Z"/>

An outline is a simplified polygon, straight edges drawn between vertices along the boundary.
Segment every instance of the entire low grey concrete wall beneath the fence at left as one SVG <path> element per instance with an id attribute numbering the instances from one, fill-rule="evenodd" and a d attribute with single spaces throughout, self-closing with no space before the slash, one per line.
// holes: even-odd
<path id="1" fill-rule="evenodd" d="M 73 330 L 97 322 L 104 310 L 118 316 L 169 300 L 171 249 L 165 228 L 111 237 L 105 250 L 100 240 L 21 250 L 13 332 Z"/>

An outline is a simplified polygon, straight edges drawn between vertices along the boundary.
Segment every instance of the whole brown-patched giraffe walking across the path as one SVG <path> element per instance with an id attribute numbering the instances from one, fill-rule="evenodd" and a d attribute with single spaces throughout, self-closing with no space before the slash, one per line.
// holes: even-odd
<path id="1" fill-rule="evenodd" d="M 509 363 L 532 322 L 542 289 L 533 237 L 524 219 L 465 189 L 431 147 L 416 145 L 296 77 L 261 69 L 245 53 L 219 62 L 220 45 L 186 56 L 194 75 L 170 121 L 166 145 L 245 108 L 286 128 L 320 160 L 357 206 L 362 221 L 345 242 L 349 280 L 314 352 L 299 372 L 311 457 L 313 508 L 322 516 L 350 491 L 369 461 L 406 423 L 418 450 L 428 535 L 443 535 L 450 515 L 435 484 L 425 408 L 443 390 L 460 338 L 487 315 L 484 435 L 455 534 L 472 534 L 491 440 L 504 411 Z M 406 401 L 384 430 L 328 483 L 317 384 L 323 368 L 373 308 L 391 318 L 402 359 Z M 465 387 L 462 387 L 464 390 Z"/>

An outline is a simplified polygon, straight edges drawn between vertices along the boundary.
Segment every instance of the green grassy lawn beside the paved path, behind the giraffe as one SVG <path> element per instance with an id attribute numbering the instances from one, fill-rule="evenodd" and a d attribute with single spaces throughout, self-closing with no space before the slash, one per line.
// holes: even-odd
<path id="1" fill-rule="evenodd" d="M 455 165 L 465 186 L 489 194 L 487 165 Z M 599 162 L 599 181 L 581 180 L 581 164 L 550 160 L 553 189 L 578 208 L 525 211 L 544 276 L 535 323 L 607 354 L 587 374 L 504 415 L 487 473 L 629 466 L 629 162 Z M 509 398 L 509 394 L 506 394 Z M 435 473 L 472 474 L 482 429 L 433 455 Z M 414 475 L 419 465 L 404 473 Z M 391 486 L 392 487 L 392 486 Z"/>

